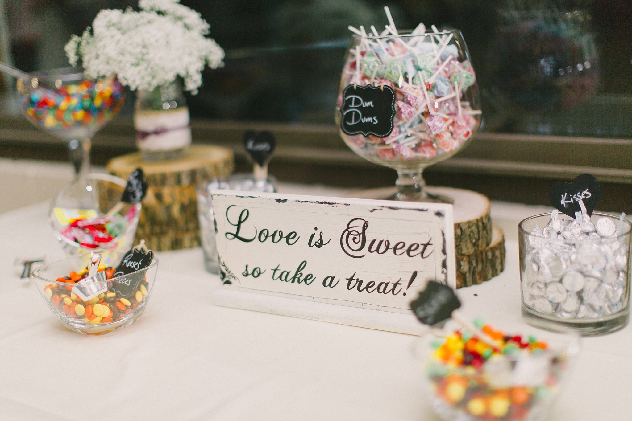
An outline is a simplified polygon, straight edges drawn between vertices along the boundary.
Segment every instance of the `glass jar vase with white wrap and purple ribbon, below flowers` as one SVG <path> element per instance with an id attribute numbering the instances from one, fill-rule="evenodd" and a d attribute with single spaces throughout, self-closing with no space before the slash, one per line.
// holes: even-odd
<path id="1" fill-rule="evenodd" d="M 136 144 L 147 161 L 183 157 L 191 145 L 189 109 L 179 80 L 138 90 L 134 105 Z"/>

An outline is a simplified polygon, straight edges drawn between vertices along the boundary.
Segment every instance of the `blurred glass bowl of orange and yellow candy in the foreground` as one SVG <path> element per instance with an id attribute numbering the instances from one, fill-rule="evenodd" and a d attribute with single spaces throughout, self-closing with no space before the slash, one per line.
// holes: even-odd
<path id="1" fill-rule="evenodd" d="M 474 324 L 493 346 L 452 320 L 414 343 L 434 412 L 446 421 L 544 420 L 579 352 L 579 337 L 533 333 L 523 324 Z"/>

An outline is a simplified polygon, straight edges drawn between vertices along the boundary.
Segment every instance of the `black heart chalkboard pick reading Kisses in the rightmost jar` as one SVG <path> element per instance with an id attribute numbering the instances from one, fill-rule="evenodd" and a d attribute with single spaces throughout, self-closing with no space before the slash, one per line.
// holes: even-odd
<path id="1" fill-rule="evenodd" d="M 592 215 L 600 196 L 599 182 L 590 174 L 578 175 L 572 182 L 559 182 L 551 187 L 551 204 L 562 213 L 575 217 L 581 212 L 580 200 L 586 207 L 586 213 Z"/>

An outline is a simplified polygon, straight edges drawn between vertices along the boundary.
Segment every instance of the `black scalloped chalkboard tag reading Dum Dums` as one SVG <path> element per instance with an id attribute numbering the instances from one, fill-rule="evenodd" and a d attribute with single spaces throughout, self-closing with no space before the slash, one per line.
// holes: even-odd
<path id="1" fill-rule="evenodd" d="M 340 127 L 349 135 L 386 138 L 393 131 L 395 91 L 391 86 L 348 85 L 343 90 Z"/>

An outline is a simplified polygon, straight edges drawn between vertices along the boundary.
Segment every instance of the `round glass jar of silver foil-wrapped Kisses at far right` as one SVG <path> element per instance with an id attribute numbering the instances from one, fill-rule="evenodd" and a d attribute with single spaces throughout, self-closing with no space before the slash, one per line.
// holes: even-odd
<path id="1" fill-rule="evenodd" d="M 518 226 L 522 314 L 534 326 L 551 323 L 600 335 L 628 324 L 632 224 L 584 214 L 581 223 L 554 210 Z"/>

